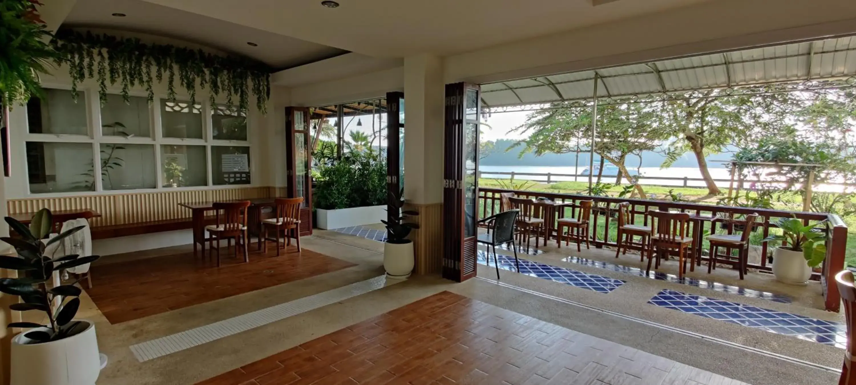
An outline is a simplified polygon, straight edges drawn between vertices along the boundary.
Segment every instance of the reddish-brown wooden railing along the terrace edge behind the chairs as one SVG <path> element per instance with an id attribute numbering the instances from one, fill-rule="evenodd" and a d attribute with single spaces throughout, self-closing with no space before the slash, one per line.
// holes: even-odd
<path id="1" fill-rule="evenodd" d="M 716 233 L 717 224 L 725 227 L 728 234 L 734 231 L 734 222 L 728 218 L 740 217 L 742 215 L 758 213 L 758 222 L 754 224 L 755 231 L 761 231 L 763 237 L 770 235 L 770 228 L 776 228 L 776 218 L 796 217 L 802 220 L 806 225 L 813 222 L 823 222 L 823 228 L 829 237 L 827 245 L 827 257 L 823 262 L 823 269 L 820 273 L 814 273 L 812 278 L 821 281 L 823 285 L 823 295 L 826 299 L 826 309 L 829 311 L 838 311 L 841 303 L 841 297 L 835 287 L 835 273 L 844 270 L 844 254 L 847 245 L 847 225 L 841 221 L 839 216 L 834 214 L 823 214 L 814 212 L 802 211 L 784 211 L 784 210 L 767 210 L 767 209 L 752 209 L 745 207 L 719 206 L 712 204 L 694 204 L 687 202 L 668 202 L 660 200 L 648 199 L 629 199 L 629 198 L 610 198 L 610 197 L 591 197 L 580 194 L 566 193 L 542 193 L 532 191 L 513 191 L 497 188 L 480 188 L 479 189 L 479 218 L 491 216 L 499 212 L 500 193 L 514 193 L 522 198 L 549 198 L 557 202 L 570 203 L 568 206 L 558 210 L 556 217 L 576 216 L 576 210 L 579 209 L 578 202 L 580 200 L 594 200 L 596 208 L 591 211 L 591 234 L 592 244 L 596 247 L 617 246 L 615 240 L 610 234 L 609 222 L 613 222 L 613 228 L 617 226 L 617 220 L 613 218 L 615 215 L 615 204 L 621 202 L 630 203 L 631 219 L 634 223 L 642 222 L 642 225 L 647 225 L 649 218 L 645 216 L 649 210 L 677 210 L 695 214 L 697 216 L 710 216 L 710 219 L 700 219 L 701 231 L 707 230 L 710 234 Z M 555 220 L 556 218 L 554 218 Z M 603 224 L 603 231 L 598 231 L 598 224 Z M 555 227 L 554 227 L 555 228 Z M 699 232 L 699 234 L 701 234 Z M 550 234 L 554 236 L 555 234 Z M 630 246 L 631 249 L 640 250 L 639 244 Z M 700 253 L 699 253 L 700 254 Z M 768 253 L 767 243 L 761 246 L 761 260 L 758 264 L 748 264 L 749 268 L 758 269 L 760 271 L 770 272 L 772 267 L 767 263 L 766 256 Z M 708 260 L 704 255 L 700 256 L 702 261 Z M 829 283 L 829 284 L 828 284 Z"/>

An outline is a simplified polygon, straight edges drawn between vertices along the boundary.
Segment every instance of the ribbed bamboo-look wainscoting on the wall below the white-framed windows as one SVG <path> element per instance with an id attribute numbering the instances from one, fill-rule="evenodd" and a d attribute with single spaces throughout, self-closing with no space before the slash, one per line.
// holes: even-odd
<path id="1" fill-rule="evenodd" d="M 61 198 L 10 199 L 9 214 L 51 210 L 92 209 L 101 214 L 92 218 L 93 227 L 127 223 L 190 218 L 191 212 L 180 203 L 209 202 L 229 199 L 270 198 L 275 187 L 241 187 L 217 190 L 183 190 L 163 193 L 128 193 L 86 195 Z"/>

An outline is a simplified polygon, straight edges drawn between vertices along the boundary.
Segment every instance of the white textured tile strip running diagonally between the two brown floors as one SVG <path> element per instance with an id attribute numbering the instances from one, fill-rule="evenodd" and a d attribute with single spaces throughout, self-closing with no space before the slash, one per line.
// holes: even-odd
<path id="1" fill-rule="evenodd" d="M 280 305 L 231 317 L 199 328 L 190 329 L 174 335 L 167 335 L 152 341 L 142 342 L 131 346 L 131 352 L 140 362 L 165 356 L 170 353 L 202 345 L 229 335 L 235 335 L 249 329 L 258 328 L 287 317 L 296 316 L 319 307 L 335 304 L 344 299 L 356 297 L 384 287 L 386 277 L 376 276 L 366 281 L 352 283 L 348 286 L 337 287 L 324 293 L 318 293 L 294 299 Z"/>

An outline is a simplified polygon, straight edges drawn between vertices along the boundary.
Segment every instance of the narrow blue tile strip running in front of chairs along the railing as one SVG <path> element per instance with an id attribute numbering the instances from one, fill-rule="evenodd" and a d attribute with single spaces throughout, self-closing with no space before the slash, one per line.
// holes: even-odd
<path id="1" fill-rule="evenodd" d="M 594 259 L 587 258 L 579 258 L 579 257 L 568 257 L 562 258 L 564 262 L 570 262 L 572 264 L 583 264 L 586 266 L 597 267 L 601 269 L 607 269 L 612 271 L 618 271 L 625 274 L 639 275 L 647 278 L 651 278 L 653 280 L 658 281 L 669 281 L 675 283 L 681 283 L 687 286 L 700 287 L 705 289 L 710 289 L 720 293 L 729 293 L 729 294 L 737 294 L 742 295 L 744 297 L 749 298 L 759 298 L 759 299 L 767 299 L 773 302 L 779 302 L 782 304 L 790 304 L 793 302 L 793 299 L 784 294 L 776 294 L 769 292 L 762 292 L 758 290 L 752 290 L 745 287 L 738 287 L 732 285 L 726 285 L 723 283 L 718 283 L 714 281 L 704 281 L 691 277 L 684 277 L 683 280 L 679 279 L 677 275 L 667 274 L 660 271 L 648 271 L 635 268 L 632 266 L 624 266 L 621 264 L 611 264 L 609 262 L 597 261 Z"/>

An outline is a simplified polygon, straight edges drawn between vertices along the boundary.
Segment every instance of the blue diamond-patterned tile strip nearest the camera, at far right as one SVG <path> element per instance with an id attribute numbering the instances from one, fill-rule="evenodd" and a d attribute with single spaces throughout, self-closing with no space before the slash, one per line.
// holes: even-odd
<path id="1" fill-rule="evenodd" d="M 820 342 L 842 349 L 847 347 L 847 327 L 840 323 L 756 306 L 740 305 L 674 290 L 663 290 L 648 303 L 696 316 L 736 323 L 748 328 L 761 329 L 770 333 Z"/>

